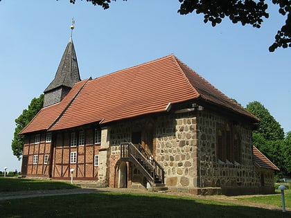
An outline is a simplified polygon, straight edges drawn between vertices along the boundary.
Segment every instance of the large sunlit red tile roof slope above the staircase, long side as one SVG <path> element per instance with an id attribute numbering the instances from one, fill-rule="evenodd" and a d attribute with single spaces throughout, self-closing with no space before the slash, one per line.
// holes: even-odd
<path id="1" fill-rule="evenodd" d="M 168 55 L 89 81 L 52 130 L 166 111 L 169 102 L 198 97 L 175 56 Z"/>

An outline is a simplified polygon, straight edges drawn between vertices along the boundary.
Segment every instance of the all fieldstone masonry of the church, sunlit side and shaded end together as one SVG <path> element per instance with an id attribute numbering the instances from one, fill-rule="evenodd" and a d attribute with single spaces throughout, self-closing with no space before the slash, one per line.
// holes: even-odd
<path id="1" fill-rule="evenodd" d="M 120 158 L 121 143 L 131 141 L 132 131 L 142 131 L 145 120 L 130 120 L 110 127 L 109 186 L 114 185 L 116 163 Z M 165 172 L 165 183 L 170 190 L 195 194 L 220 194 L 240 190 L 253 192 L 272 185 L 272 170 L 255 170 L 252 161 L 252 128 L 241 123 L 231 124 L 240 135 L 242 157 L 240 163 L 224 163 L 217 158 L 217 125 L 230 123 L 227 118 L 207 111 L 169 113 L 155 120 L 155 159 Z M 108 155 L 107 154 L 107 155 Z M 134 168 L 132 178 L 134 176 Z M 129 178 L 129 181 L 130 179 Z M 130 185 L 130 184 L 129 184 Z M 223 190 L 231 190 L 223 192 Z"/>

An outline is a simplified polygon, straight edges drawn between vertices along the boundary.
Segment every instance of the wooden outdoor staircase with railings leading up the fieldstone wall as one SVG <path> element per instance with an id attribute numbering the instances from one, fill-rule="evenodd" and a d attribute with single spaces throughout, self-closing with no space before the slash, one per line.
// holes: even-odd
<path id="1" fill-rule="evenodd" d="M 152 191 L 166 191 L 164 184 L 164 170 L 157 161 L 141 145 L 121 143 L 121 158 L 130 161 L 139 169 L 150 183 Z"/>

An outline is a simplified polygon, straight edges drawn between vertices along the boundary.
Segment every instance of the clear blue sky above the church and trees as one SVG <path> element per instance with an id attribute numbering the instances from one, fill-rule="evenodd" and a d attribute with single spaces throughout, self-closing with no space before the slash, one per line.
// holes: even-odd
<path id="1" fill-rule="evenodd" d="M 178 9 L 178 0 L 117 0 L 108 10 L 85 0 L 0 1 L 0 171 L 21 169 L 11 150 L 15 118 L 53 80 L 72 18 L 82 79 L 173 53 L 244 107 L 261 102 L 291 131 L 291 48 L 268 51 L 285 22 L 278 8 L 269 9 L 261 29 L 228 18 L 213 28 L 202 15 L 182 16 Z"/>

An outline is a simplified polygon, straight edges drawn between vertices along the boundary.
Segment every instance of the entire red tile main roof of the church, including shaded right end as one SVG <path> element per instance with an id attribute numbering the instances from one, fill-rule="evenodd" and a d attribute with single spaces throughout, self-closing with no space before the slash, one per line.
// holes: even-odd
<path id="1" fill-rule="evenodd" d="M 27 130 L 24 129 L 21 133 L 42 129 L 49 131 L 68 129 L 100 122 L 100 120 L 103 120 L 102 123 L 112 122 L 166 111 L 169 103 L 198 98 L 258 122 L 258 118 L 252 113 L 224 96 L 174 55 L 117 71 L 83 82 L 83 84 L 85 85 L 82 89 L 80 89 L 80 84 L 79 88 L 73 87 L 74 93 L 76 89 L 80 92 L 69 107 L 62 106 L 62 109 L 58 111 L 55 109 L 57 105 L 42 109 L 35 118 L 35 122 L 30 122 L 32 127 L 28 125 Z M 72 91 L 68 96 L 74 95 Z M 72 97 L 66 98 L 72 99 Z M 64 100 L 60 102 L 60 105 L 66 105 Z M 61 111 L 62 114 L 60 114 Z M 53 114 L 53 118 L 50 113 Z M 52 123 L 56 118 L 58 122 Z M 46 125 L 40 123 L 43 120 L 46 120 Z"/>

